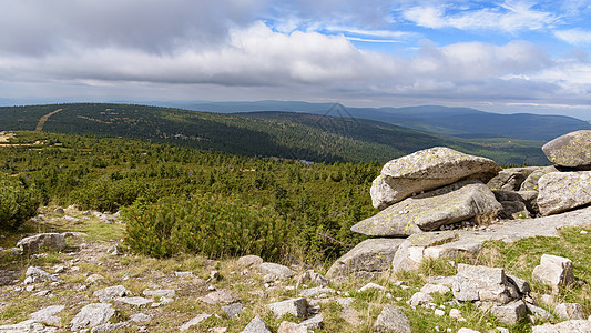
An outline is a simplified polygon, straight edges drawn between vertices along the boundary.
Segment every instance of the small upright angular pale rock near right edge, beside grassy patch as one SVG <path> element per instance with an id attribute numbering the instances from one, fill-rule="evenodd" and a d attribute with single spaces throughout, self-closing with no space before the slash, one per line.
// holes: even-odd
<path id="1" fill-rule="evenodd" d="M 567 258 L 543 254 L 540 265 L 533 268 L 532 279 L 550 285 L 553 293 L 558 293 L 561 286 L 574 282 L 572 261 Z"/>

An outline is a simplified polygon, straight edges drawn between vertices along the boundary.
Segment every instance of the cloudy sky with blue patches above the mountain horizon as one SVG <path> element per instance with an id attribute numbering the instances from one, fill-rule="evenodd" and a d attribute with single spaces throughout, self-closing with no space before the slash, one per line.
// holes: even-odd
<path id="1" fill-rule="evenodd" d="M 591 1 L 0 0 L 0 102 L 439 104 L 591 120 Z"/>

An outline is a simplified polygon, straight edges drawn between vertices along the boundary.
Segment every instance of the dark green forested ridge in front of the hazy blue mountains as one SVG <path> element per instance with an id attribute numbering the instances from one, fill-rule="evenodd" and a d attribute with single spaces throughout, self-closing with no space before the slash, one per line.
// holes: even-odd
<path id="1" fill-rule="evenodd" d="M 420 149 L 447 145 L 499 164 L 546 164 L 542 142 L 465 140 L 348 117 L 293 112 L 220 114 L 130 104 L 53 104 L 0 108 L 0 130 L 95 134 L 198 147 L 249 157 L 315 162 L 386 162 Z"/>

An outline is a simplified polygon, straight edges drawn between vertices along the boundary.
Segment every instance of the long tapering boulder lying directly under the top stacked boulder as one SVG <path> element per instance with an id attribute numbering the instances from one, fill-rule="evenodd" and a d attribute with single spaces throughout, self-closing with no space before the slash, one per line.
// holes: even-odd
<path id="1" fill-rule="evenodd" d="M 350 230 L 373 236 L 408 236 L 471 218 L 493 219 L 501 210 L 487 185 L 459 182 L 395 203 Z"/>

